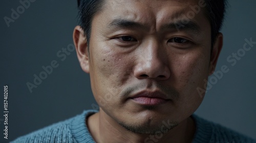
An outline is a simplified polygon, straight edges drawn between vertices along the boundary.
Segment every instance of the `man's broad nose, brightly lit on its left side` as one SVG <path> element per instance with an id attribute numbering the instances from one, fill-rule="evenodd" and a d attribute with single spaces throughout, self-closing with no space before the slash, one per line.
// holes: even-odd
<path id="1" fill-rule="evenodd" d="M 134 75 L 138 79 L 165 80 L 170 76 L 168 55 L 157 40 L 149 40 L 138 48 Z"/>

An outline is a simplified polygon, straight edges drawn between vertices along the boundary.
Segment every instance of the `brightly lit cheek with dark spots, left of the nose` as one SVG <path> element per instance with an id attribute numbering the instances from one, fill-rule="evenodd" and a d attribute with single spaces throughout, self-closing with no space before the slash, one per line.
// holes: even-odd
<path id="1" fill-rule="evenodd" d="M 90 77 L 93 94 L 99 105 L 118 100 L 120 87 L 130 76 L 129 62 L 121 53 L 115 52 L 109 46 L 93 49 L 90 59 Z M 95 54 L 97 53 L 97 54 Z M 130 57 L 131 58 L 131 57 Z M 130 61 L 131 63 L 131 61 Z M 101 102 L 101 103 L 100 103 Z"/>

